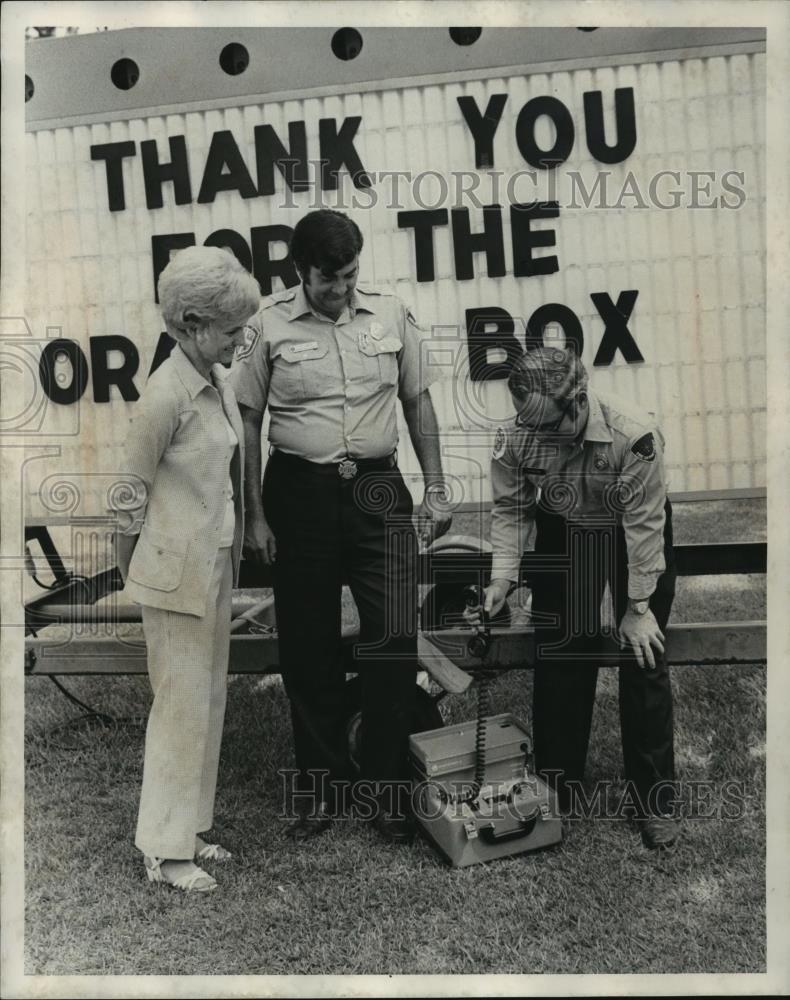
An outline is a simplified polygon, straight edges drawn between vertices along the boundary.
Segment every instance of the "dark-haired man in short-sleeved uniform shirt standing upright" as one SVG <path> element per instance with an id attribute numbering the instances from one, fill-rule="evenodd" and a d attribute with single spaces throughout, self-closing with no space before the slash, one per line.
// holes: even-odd
<path id="1" fill-rule="evenodd" d="M 419 332 L 396 296 L 356 287 L 361 249 L 362 234 L 347 216 L 321 210 L 302 218 L 291 241 L 302 284 L 264 304 L 231 371 L 247 445 L 246 550 L 274 565 L 303 793 L 288 832 L 298 840 L 326 828 L 340 805 L 333 802 L 339 782 L 349 777 L 344 581 L 360 616 L 362 777 L 375 785 L 384 836 L 412 833 L 403 797 L 393 795 L 408 779 L 418 568 L 412 500 L 395 454 L 397 399 L 425 479 L 430 534 L 450 523 L 439 509 L 444 479 Z M 261 495 L 267 407 L 271 454 Z"/>

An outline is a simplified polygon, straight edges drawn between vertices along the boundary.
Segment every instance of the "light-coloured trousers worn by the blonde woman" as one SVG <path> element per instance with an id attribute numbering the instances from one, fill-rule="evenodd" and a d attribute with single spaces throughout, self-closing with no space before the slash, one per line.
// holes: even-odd
<path id="1" fill-rule="evenodd" d="M 230 548 L 220 549 L 206 614 L 143 607 L 154 693 L 135 845 L 149 856 L 190 859 L 214 823 L 233 589 Z"/>

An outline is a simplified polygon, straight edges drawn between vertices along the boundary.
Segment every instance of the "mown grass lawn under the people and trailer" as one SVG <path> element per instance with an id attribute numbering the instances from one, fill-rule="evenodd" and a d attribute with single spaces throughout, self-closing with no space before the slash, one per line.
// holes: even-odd
<path id="1" fill-rule="evenodd" d="M 696 518 L 679 541 L 698 540 Z M 762 578 L 720 577 L 683 581 L 674 617 L 763 616 Z M 65 684 L 118 717 L 143 719 L 150 704 L 144 677 Z M 626 822 L 587 820 L 556 848 L 453 870 L 425 842 L 389 846 L 359 822 L 287 842 L 287 699 L 278 678 L 235 677 L 216 817 L 235 860 L 215 866 L 217 892 L 191 897 L 150 886 L 132 843 L 142 727 L 58 728 L 78 709 L 47 678 L 28 678 L 26 972 L 764 971 L 765 668 L 677 668 L 674 685 L 684 799 L 689 783 L 713 783 L 701 794 L 714 814 L 687 820 L 677 850 L 659 856 Z M 492 710 L 528 721 L 530 688 L 528 673 L 503 675 Z M 474 696 L 442 708 L 448 722 L 472 718 Z M 587 778 L 621 777 L 617 678 L 601 671 Z"/>

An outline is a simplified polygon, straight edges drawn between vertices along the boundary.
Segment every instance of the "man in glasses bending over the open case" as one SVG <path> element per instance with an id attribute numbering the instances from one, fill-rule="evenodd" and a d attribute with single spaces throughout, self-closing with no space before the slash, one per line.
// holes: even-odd
<path id="1" fill-rule="evenodd" d="M 661 432 L 648 414 L 596 393 L 572 351 L 527 352 L 509 378 L 517 417 L 491 462 L 493 563 L 485 608 L 519 579 L 536 526 L 543 567 L 530 580 L 537 663 L 535 759 L 573 810 L 590 736 L 608 581 L 619 637 L 625 776 L 647 847 L 677 836 L 672 689 L 664 633 L 675 592 L 672 515 Z M 470 613 L 471 621 L 479 614 Z"/>

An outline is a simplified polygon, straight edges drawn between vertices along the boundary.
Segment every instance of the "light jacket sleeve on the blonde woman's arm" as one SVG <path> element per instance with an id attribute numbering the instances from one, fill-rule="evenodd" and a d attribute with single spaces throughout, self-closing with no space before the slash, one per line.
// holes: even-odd
<path id="1" fill-rule="evenodd" d="M 110 510 L 122 535 L 139 535 L 148 497 L 165 449 L 178 427 L 178 401 L 171 392 L 152 386 L 135 405 L 126 438 L 126 468 L 113 490 Z"/>

